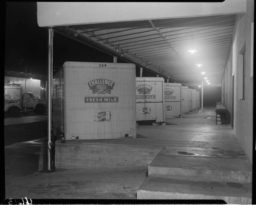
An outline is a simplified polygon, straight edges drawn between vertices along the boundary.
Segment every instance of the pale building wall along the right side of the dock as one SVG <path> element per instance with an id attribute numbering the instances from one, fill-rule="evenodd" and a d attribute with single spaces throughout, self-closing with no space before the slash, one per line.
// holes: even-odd
<path id="1" fill-rule="evenodd" d="M 228 111 L 232 111 L 232 75 L 234 75 L 234 132 L 252 163 L 253 129 L 253 22 L 254 2 L 247 1 L 246 14 L 238 14 L 233 31 L 232 48 L 223 73 L 222 100 Z M 245 49 L 244 49 L 245 48 Z M 243 95 L 243 58 L 245 50 L 245 97 Z"/>

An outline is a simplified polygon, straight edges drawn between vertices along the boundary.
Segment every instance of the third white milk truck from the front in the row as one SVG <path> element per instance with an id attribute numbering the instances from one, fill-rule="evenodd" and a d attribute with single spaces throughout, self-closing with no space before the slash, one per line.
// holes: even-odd
<path id="1" fill-rule="evenodd" d="M 165 118 L 181 116 L 181 86 L 180 83 L 164 84 Z"/>

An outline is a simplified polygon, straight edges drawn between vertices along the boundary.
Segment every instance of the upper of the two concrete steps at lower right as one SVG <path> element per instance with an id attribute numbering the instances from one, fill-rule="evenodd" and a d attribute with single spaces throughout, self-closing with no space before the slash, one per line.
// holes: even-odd
<path id="1" fill-rule="evenodd" d="M 212 181 L 252 182 L 252 167 L 247 159 L 159 155 L 148 166 L 148 175 L 166 178 L 184 176 Z"/>

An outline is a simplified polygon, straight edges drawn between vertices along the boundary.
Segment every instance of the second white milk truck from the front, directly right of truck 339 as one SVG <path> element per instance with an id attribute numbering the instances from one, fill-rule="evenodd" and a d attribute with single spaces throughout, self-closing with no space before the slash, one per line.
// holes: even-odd
<path id="1" fill-rule="evenodd" d="M 165 122 L 163 78 L 136 77 L 136 121 Z"/>

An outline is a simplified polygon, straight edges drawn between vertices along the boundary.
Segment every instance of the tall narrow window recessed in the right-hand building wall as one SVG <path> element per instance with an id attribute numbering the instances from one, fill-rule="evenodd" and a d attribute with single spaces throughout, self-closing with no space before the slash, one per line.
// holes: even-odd
<path id="1" fill-rule="evenodd" d="M 239 52 L 238 58 L 238 97 L 245 100 L 245 44 Z"/>

